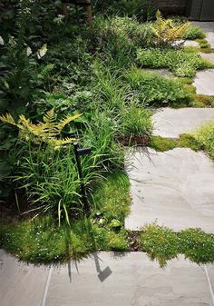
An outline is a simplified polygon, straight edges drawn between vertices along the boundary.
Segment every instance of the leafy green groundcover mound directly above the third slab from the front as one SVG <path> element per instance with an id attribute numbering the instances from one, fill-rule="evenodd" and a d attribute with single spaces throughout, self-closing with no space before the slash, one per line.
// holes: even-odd
<path id="1" fill-rule="evenodd" d="M 188 103 L 190 94 L 185 85 L 160 74 L 144 72 L 132 67 L 127 74 L 131 90 L 137 91 L 141 102 L 146 104 L 170 104 L 185 101 Z"/>

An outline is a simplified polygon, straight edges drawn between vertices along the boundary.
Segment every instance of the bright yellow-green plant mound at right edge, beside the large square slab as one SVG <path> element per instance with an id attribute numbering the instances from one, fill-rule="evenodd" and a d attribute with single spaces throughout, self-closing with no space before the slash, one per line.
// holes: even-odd
<path id="1" fill-rule="evenodd" d="M 200 146 L 214 158 L 214 122 L 202 125 L 193 137 L 197 140 Z"/>

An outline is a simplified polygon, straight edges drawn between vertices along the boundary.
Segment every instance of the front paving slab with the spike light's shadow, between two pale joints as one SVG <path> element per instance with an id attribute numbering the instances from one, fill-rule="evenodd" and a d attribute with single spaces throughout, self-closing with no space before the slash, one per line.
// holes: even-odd
<path id="1" fill-rule="evenodd" d="M 183 258 L 160 269 L 142 252 L 101 252 L 68 274 L 53 271 L 46 306 L 213 306 L 204 267 Z"/>

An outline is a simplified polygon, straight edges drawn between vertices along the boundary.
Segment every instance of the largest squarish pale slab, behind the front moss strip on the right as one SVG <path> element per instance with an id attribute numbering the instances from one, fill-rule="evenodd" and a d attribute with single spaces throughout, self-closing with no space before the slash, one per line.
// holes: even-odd
<path id="1" fill-rule="evenodd" d="M 127 229 L 157 221 L 176 232 L 190 227 L 214 232 L 214 163 L 206 154 L 139 147 L 127 154 L 126 171 L 132 197 Z"/>

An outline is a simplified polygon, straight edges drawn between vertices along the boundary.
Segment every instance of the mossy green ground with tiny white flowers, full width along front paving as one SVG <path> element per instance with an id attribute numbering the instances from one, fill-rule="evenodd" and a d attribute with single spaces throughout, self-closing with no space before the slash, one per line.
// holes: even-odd
<path id="1" fill-rule="evenodd" d="M 187 139 L 184 137 L 182 141 Z M 141 232 L 126 231 L 124 218 L 130 211 L 131 198 L 124 173 L 107 177 L 94 192 L 93 201 L 97 209 L 91 218 L 75 220 L 71 226 L 62 223 L 59 227 L 50 216 L 33 221 L 1 221 L 0 247 L 20 260 L 33 263 L 80 260 L 96 251 L 147 252 L 160 267 L 180 253 L 192 262 L 214 262 L 214 236 L 200 229 L 176 233 L 151 223 Z"/>

